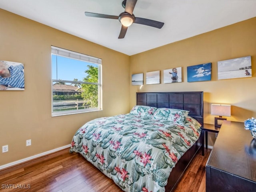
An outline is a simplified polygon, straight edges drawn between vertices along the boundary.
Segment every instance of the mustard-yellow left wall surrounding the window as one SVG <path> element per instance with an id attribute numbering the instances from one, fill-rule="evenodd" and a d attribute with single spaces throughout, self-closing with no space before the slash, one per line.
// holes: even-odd
<path id="1" fill-rule="evenodd" d="M 0 146 L 9 145 L 0 166 L 70 144 L 89 120 L 129 112 L 129 56 L 1 9 L 0 18 L 0 60 L 25 72 L 24 91 L 0 91 Z M 102 111 L 51 117 L 51 45 L 102 58 Z"/>

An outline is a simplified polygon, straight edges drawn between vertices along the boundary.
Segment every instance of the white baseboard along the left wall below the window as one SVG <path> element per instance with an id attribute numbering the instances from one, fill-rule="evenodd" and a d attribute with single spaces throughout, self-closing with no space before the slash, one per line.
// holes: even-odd
<path id="1" fill-rule="evenodd" d="M 57 152 L 57 151 L 60 151 L 62 149 L 69 148 L 69 147 L 71 147 L 71 144 L 68 144 L 68 145 L 65 145 L 65 146 L 50 150 L 50 151 L 46 151 L 46 152 L 43 152 L 43 153 L 40 153 L 40 154 L 37 154 L 37 155 L 33 155 L 33 156 L 30 156 L 30 157 L 27 157 L 27 158 L 24 158 L 24 159 L 21 159 L 21 160 L 18 160 L 18 161 L 14 161 L 14 162 L 11 162 L 11 163 L 8 163 L 8 164 L 1 165 L 0 170 L 8 168 L 10 166 L 20 164 L 20 163 L 24 163 L 26 161 L 29 161 L 29 160 L 32 160 L 32 159 L 35 159 L 35 158 L 38 158 L 38 157 L 41 157 L 41 156 L 44 156 L 44 155 L 48 155 L 50 153 L 54 153 L 54 152 Z"/>

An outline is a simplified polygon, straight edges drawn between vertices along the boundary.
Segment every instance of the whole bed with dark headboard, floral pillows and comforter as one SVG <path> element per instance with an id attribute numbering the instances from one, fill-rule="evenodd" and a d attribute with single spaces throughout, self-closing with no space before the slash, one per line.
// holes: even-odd
<path id="1" fill-rule="evenodd" d="M 138 92 L 130 113 L 79 128 L 70 152 L 124 191 L 168 192 L 202 147 L 201 124 L 203 92 Z"/>

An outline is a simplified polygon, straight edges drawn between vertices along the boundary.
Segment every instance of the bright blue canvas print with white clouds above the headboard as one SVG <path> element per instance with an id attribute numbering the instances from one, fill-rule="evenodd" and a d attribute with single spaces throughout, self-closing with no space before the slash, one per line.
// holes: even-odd
<path id="1" fill-rule="evenodd" d="M 212 78 L 212 63 L 187 67 L 188 82 L 210 81 Z"/>

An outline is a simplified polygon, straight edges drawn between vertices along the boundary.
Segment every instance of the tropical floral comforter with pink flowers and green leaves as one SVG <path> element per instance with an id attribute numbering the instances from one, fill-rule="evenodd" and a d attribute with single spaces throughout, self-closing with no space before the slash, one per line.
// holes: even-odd
<path id="1" fill-rule="evenodd" d="M 79 152 L 126 192 L 164 192 L 180 157 L 201 130 L 132 114 L 92 120 L 74 135 L 70 152 Z"/>

